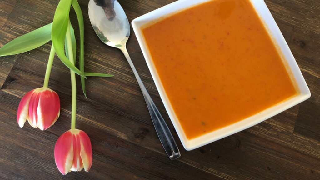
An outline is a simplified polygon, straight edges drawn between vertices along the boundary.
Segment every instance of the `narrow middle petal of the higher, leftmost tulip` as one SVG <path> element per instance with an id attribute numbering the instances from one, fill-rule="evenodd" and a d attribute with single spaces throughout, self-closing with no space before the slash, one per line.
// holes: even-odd
<path id="1" fill-rule="evenodd" d="M 38 88 L 39 89 L 39 88 Z M 28 122 L 32 127 L 37 127 L 37 107 L 39 103 L 40 94 L 35 89 L 34 93 L 32 94 L 29 102 L 29 113 L 28 113 Z"/>

